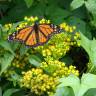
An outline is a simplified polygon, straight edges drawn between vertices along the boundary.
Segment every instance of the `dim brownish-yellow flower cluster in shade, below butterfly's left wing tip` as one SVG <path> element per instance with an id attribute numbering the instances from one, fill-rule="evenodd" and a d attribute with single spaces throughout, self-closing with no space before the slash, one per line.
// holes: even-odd
<path id="1" fill-rule="evenodd" d="M 20 54 L 16 53 L 15 58 L 11 62 L 11 65 L 9 66 L 8 70 L 4 73 L 5 77 L 10 77 L 13 73 L 18 71 L 22 71 L 26 68 L 31 68 L 32 66 L 28 63 L 27 58 L 28 53 L 26 53 L 24 56 L 20 57 Z"/>

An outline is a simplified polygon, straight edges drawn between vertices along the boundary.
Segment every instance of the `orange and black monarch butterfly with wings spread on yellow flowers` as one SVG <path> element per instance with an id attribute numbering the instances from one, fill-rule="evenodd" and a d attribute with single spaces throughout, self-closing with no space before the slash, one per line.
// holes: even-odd
<path id="1" fill-rule="evenodd" d="M 28 26 L 9 35 L 8 40 L 16 40 L 26 46 L 36 47 L 46 43 L 53 34 L 60 33 L 59 26 L 54 24 L 39 24 L 35 22 L 33 26 Z"/>

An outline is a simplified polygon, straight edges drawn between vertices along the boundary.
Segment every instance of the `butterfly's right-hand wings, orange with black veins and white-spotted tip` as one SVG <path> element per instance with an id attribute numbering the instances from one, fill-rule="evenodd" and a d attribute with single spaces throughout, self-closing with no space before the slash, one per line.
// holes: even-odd
<path id="1" fill-rule="evenodd" d="M 53 24 L 40 24 L 38 29 L 38 45 L 42 45 L 46 43 L 53 34 L 57 34 L 61 32 L 61 29 Z"/>

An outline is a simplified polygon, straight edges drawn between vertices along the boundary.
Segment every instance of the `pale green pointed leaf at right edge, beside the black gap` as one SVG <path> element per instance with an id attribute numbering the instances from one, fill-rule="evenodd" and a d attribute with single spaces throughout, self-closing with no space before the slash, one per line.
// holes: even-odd
<path id="1" fill-rule="evenodd" d="M 96 40 L 89 40 L 86 38 L 83 34 L 81 34 L 81 40 L 80 40 L 81 46 L 86 50 L 86 52 L 89 55 L 89 58 L 91 60 L 92 65 L 89 66 L 88 70 L 89 72 L 94 71 L 96 74 Z"/>

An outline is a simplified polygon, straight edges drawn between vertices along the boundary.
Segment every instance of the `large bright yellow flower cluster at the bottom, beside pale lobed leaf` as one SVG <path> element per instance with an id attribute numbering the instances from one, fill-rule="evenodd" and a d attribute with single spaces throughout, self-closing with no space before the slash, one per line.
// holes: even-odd
<path id="1" fill-rule="evenodd" d="M 69 74 L 79 76 L 75 66 L 66 67 L 65 63 L 58 60 L 42 62 L 41 68 L 32 68 L 27 72 L 22 72 L 22 74 L 21 87 L 31 89 L 38 96 L 45 92 L 49 94 L 48 96 L 53 96 L 52 93 L 54 93 L 57 84 L 59 84 L 58 80 L 61 77 Z"/>

